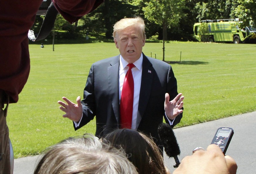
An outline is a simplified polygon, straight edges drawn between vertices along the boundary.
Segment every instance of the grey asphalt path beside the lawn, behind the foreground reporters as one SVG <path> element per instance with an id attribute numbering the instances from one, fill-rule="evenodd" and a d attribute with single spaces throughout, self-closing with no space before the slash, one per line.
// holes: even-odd
<path id="1" fill-rule="evenodd" d="M 196 147 L 207 148 L 219 127 L 231 127 L 234 130 L 226 155 L 235 159 L 238 174 L 256 173 L 256 112 L 231 116 L 224 119 L 209 121 L 192 126 L 175 128 L 174 133 L 180 147 L 179 160 L 191 155 Z M 165 163 L 171 172 L 175 161 L 164 154 Z M 14 159 L 14 174 L 33 173 L 40 155 Z"/>

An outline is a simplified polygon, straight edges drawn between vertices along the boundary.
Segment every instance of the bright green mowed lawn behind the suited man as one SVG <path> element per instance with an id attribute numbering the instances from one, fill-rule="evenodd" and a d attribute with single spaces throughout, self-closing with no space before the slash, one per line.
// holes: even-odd
<path id="1" fill-rule="evenodd" d="M 35 155 L 65 138 L 95 133 L 95 120 L 74 131 L 57 103 L 75 102 L 91 64 L 119 54 L 114 43 L 30 45 L 31 70 L 16 104 L 9 105 L 7 124 L 15 158 Z M 184 115 L 176 127 L 256 110 L 256 44 L 165 43 L 183 93 Z M 162 60 L 162 43 L 146 43 L 145 55 Z M 105 100 L 105 99 L 102 99 Z"/>

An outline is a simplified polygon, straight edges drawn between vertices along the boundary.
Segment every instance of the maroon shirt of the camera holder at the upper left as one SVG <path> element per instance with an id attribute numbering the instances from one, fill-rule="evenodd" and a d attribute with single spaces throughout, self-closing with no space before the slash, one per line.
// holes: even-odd
<path id="1" fill-rule="evenodd" d="M 96 9 L 104 0 L 52 0 L 63 17 L 73 23 Z M 0 89 L 18 101 L 30 71 L 28 30 L 42 0 L 0 2 Z"/>

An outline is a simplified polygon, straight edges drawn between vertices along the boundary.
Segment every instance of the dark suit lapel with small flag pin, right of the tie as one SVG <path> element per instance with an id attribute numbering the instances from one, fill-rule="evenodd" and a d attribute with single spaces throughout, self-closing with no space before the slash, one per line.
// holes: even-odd
<path id="1" fill-rule="evenodd" d="M 145 113 L 145 109 L 147 107 L 148 100 L 150 98 L 154 72 L 155 71 L 153 69 L 151 62 L 143 54 L 140 98 L 139 98 L 139 105 L 138 105 L 136 129 L 138 128 L 140 121 L 143 117 L 143 114 Z"/>

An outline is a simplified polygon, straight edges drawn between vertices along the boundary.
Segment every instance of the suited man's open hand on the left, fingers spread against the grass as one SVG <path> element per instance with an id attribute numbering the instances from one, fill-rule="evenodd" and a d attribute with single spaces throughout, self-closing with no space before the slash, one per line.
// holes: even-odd
<path id="1" fill-rule="evenodd" d="M 62 116 L 64 118 L 69 118 L 72 121 L 79 122 L 83 114 L 80 96 L 77 97 L 77 104 L 71 102 L 66 97 L 62 97 L 62 99 L 67 103 L 66 104 L 65 102 L 62 102 L 60 100 L 58 101 L 58 103 L 61 105 L 60 110 L 66 113 Z"/>

